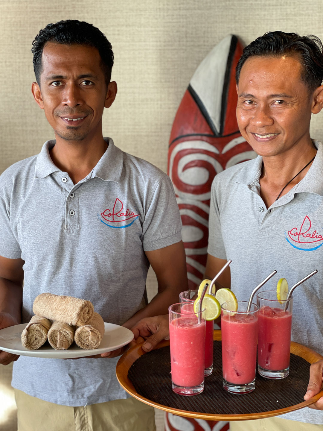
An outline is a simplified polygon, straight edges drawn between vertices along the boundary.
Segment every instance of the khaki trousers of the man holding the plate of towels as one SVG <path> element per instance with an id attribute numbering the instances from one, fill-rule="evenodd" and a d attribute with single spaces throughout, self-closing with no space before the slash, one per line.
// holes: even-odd
<path id="1" fill-rule="evenodd" d="M 18 431 L 156 431 L 154 408 L 132 397 L 68 407 L 14 391 Z"/>

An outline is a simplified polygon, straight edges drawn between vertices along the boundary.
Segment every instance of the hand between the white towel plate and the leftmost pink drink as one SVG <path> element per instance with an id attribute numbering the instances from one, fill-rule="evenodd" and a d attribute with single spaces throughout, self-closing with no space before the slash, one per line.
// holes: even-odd
<path id="1" fill-rule="evenodd" d="M 146 340 L 143 350 L 150 352 L 162 340 L 169 339 L 168 314 L 141 319 L 131 331 L 135 339 L 131 341 L 130 347 Z"/>

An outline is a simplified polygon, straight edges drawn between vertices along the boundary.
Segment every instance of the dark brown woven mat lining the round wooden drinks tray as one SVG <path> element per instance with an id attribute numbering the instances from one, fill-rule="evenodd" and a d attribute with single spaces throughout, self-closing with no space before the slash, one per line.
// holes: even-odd
<path id="1" fill-rule="evenodd" d="M 221 341 L 214 341 L 213 373 L 205 378 L 202 394 L 183 397 L 171 389 L 171 356 L 162 347 L 140 356 L 128 372 L 137 393 L 174 409 L 191 412 L 241 415 L 283 409 L 304 401 L 310 364 L 291 353 L 289 376 L 282 380 L 262 378 L 256 372 L 256 389 L 251 394 L 229 394 L 222 386 Z"/>

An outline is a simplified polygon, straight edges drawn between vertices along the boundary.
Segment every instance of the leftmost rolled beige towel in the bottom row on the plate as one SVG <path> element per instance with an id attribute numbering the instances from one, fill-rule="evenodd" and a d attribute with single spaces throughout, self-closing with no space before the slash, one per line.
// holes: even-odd
<path id="1" fill-rule="evenodd" d="M 29 350 L 39 349 L 47 340 L 47 332 L 52 322 L 45 317 L 34 315 L 22 331 L 22 345 Z"/>

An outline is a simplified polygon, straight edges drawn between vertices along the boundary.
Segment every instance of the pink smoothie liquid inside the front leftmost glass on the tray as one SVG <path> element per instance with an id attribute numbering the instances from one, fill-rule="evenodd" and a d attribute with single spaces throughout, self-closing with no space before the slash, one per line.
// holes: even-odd
<path id="1" fill-rule="evenodd" d="M 169 325 L 171 379 L 178 386 L 193 387 L 204 381 L 205 321 L 180 315 Z"/>

